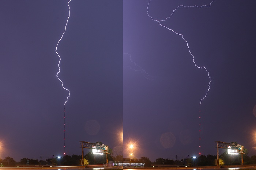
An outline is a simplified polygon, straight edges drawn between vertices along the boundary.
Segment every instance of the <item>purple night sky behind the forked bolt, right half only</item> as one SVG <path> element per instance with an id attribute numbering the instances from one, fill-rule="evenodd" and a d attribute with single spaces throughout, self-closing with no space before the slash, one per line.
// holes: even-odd
<path id="1" fill-rule="evenodd" d="M 255 155 L 256 2 L 123 1 L 124 157 L 151 161 L 217 155 L 214 141 Z M 147 14 L 148 6 L 148 14 Z M 150 15 L 151 17 L 149 17 Z M 130 58 L 131 57 L 131 58 Z M 254 112 L 253 112 L 254 110 Z M 220 150 L 222 153 L 224 150 Z"/>

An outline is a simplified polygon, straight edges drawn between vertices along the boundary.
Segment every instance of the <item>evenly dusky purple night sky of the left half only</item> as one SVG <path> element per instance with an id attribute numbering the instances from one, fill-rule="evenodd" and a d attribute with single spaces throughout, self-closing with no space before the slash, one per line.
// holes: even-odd
<path id="1" fill-rule="evenodd" d="M 65 104 L 66 154 L 79 141 L 120 149 L 123 130 L 123 2 L 72 0 L 57 51 Z M 67 0 L 0 2 L 0 158 L 63 156 L 64 102 L 55 49 Z M 89 152 L 89 149 L 84 149 Z"/>

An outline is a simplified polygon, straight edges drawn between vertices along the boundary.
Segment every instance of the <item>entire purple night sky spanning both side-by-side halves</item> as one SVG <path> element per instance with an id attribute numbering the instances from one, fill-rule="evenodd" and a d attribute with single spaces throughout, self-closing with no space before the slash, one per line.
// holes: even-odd
<path id="1" fill-rule="evenodd" d="M 80 155 L 79 141 L 117 154 L 123 131 L 124 158 L 131 142 L 136 158 L 198 157 L 200 108 L 202 155 L 217 154 L 214 141 L 256 155 L 256 2 L 148 2 L 70 1 L 57 49 L 66 154 Z M 55 49 L 68 15 L 67 0 L 0 1 L 0 158 L 63 156 Z M 211 77 L 200 107 L 210 78 L 154 21 L 169 16 L 160 23 Z"/>

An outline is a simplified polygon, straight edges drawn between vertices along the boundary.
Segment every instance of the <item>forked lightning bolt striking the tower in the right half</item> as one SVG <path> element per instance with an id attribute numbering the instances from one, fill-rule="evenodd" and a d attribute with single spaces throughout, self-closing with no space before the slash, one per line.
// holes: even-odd
<path id="1" fill-rule="evenodd" d="M 149 3 L 150 3 L 151 1 L 152 1 L 152 0 L 150 0 L 150 1 L 148 2 L 148 5 L 149 5 Z M 151 16 L 148 14 L 148 5 L 147 5 L 147 15 L 148 15 L 153 21 L 157 21 L 158 24 L 161 25 L 162 27 L 165 27 L 165 28 L 169 29 L 170 31 L 172 31 L 173 33 L 176 33 L 177 35 L 180 35 L 180 36 L 182 37 L 182 39 L 184 39 L 184 41 L 187 43 L 188 51 L 189 51 L 189 53 L 190 53 L 191 56 L 192 56 L 192 59 L 193 59 L 193 62 L 194 62 L 194 64 L 195 64 L 195 66 L 196 66 L 197 68 L 201 68 L 201 69 L 203 68 L 203 69 L 205 69 L 205 70 L 207 71 L 208 77 L 210 78 L 210 82 L 209 82 L 209 84 L 208 84 L 208 87 L 209 87 L 209 88 L 208 88 L 208 90 L 207 90 L 207 92 L 206 92 L 206 95 L 200 100 L 200 104 L 202 103 L 202 100 L 203 100 L 204 98 L 206 98 L 206 96 L 207 96 L 207 94 L 208 94 L 208 91 L 210 90 L 211 77 L 210 77 L 210 75 L 209 75 L 209 72 L 208 72 L 208 70 L 206 69 L 206 67 L 204 67 L 204 66 L 203 66 L 203 67 L 199 67 L 199 66 L 196 65 L 195 57 L 192 55 L 192 53 L 191 53 L 191 51 L 190 51 L 190 49 L 189 49 L 189 46 L 188 46 L 188 41 L 184 38 L 184 36 L 183 36 L 181 33 L 177 33 L 176 31 L 173 31 L 173 29 L 170 29 L 170 28 L 166 27 L 165 25 L 162 25 L 160 22 L 161 22 L 161 21 L 166 21 L 167 19 L 169 19 L 169 18 L 174 14 L 174 12 L 175 12 L 178 8 L 180 8 L 180 7 L 185 7 L 185 8 L 189 8 L 189 7 L 198 7 L 198 8 L 210 7 L 211 4 L 212 4 L 214 1 L 215 1 L 215 0 L 213 0 L 213 1 L 210 3 L 210 5 L 201 5 L 201 6 L 197 6 L 197 5 L 193 5 L 193 6 L 179 5 L 176 9 L 173 10 L 173 13 L 170 14 L 169 17 L 166 17 L 165 20 L 155 20 L 155 19 L 153 19 L 153 17 L 151 17 Z M 200 105 L 200 104 L 199 104 L 199 105 Z"/>

